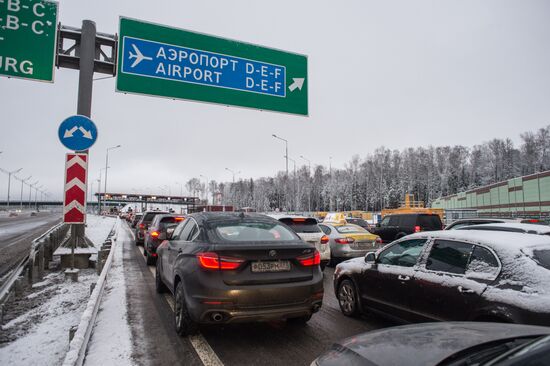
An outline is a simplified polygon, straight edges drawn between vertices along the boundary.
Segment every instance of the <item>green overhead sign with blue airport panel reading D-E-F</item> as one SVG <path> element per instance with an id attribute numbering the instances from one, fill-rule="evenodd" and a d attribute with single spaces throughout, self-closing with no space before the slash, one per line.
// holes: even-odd
<path id="1" fill-rule="evenodd" d="M 120 19 L 117 91 L 308 115 L 307 57 Z"/>

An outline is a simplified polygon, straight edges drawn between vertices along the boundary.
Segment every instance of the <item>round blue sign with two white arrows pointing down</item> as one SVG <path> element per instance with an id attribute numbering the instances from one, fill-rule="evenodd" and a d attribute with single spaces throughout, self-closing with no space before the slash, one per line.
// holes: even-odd
<path id="1" fill-rule="evenodd" d="M 76 115 L 61 122 L 57 135 L 69 150 L 88 150 L 97 140 L 97 128 L 88 117 Z"/>

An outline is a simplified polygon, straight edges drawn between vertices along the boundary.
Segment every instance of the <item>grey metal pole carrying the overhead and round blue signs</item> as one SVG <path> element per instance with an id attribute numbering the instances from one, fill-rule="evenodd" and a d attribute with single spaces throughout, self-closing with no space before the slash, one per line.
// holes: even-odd
<path id="1" fill-rule="evenodd" d="M 96 26 L 91 20 L 82 21 L 82 32 L 80 38 L 80 60 L 79 60 L 79 77 L 78 77 L 78 102 L 77 114 L 91 117 L 92 114 L 92 91 L 94 81 L 94 61 L 95 61 L 95 40 Z M 88 150 L 77 151 L 88 153 Z M 86 182 L 88 179 L 86 179 Z M 86 190 L 87 191 L 87 190 Z M 85 225 L 73 224 L 71 229 L 71 265 L 74 268 L 74 248 L 77 243 L 85 243 Z"/>

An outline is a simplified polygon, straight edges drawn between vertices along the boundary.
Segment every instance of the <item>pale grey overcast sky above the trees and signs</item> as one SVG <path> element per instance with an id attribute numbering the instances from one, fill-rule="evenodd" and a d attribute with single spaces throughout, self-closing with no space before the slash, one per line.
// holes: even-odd
<path id="1" fill-rule="evenodd" d="M 550 1 L 62 0 L 59 20 L 115 33 L 120 15 L 308 55 L 309 117 L 124 95 L 94 83 L 99 139 L 89 181 L 109 155 L 108 190 L 162 193 L 203 175 L 231 180 L 302 164 L 342 167 L 378 146 L 472 146 L 550 124 Z M 101 77 L 98 74 L 96 77 Z M 55 198 L 60 122 L 76 113 L 77 71 L 54 84 L 0 78 L 0 167 L 23 168 Z M 94 183 L 97 186 L 97 182 Z M 19 197 L 20 183 L 16 184 Z M 7 176 L 0 174 L 0 199 Z M 95 191 L 95 188 L 94 188 Z M 184 192 L 185 193 L 185 192 Z"/>

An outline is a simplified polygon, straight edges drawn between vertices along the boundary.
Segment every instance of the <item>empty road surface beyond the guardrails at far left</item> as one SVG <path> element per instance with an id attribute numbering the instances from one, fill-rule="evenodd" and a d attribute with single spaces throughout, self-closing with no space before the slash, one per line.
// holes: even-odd
<path id="1" fill-rule="evenodd" d="M 0 217 L 0 278 L 28 252 L 33 239 L 61 221 L 60 213 L 39 212 L 36 216 Z"/>

